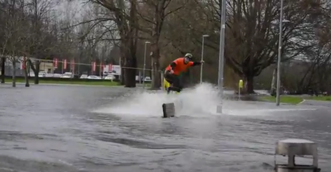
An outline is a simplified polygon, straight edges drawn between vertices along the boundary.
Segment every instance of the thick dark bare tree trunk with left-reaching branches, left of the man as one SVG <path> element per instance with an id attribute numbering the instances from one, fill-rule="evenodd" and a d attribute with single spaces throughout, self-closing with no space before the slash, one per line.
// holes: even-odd
<path id="1" fill-rule="evenodd" d="M 116 23 L 120 37 L 121 66 L 124 66 L 125 87 L 135 87 L 136 73 L 136 43 L 138 22 L 136 14 L 136 0 L 90 0 L 107 9 L 108 13 L 103 18 L 97 18 L 95 25 L 101 22 L 113 21 Z M 117 38 L 115 38 L 117 39 Z M 110 39 L 109 39 L 110 40 Z"/>

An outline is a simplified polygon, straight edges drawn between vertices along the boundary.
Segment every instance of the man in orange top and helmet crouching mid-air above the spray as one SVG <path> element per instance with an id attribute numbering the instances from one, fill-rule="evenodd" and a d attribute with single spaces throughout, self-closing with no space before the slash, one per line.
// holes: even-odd
<path id="1" fill-rule="evenodd" d="M 179 57 L 171 62 L 166 71 L 164 71 L 164 79 L 166 79 L 172 86 L 167 89 L 167 93 L 172 91 L 180 92 L 182 86 L 180 83 L 179 75 L 191 66 L 201 65 L 204 61 L 192 62 L 192 54 L 187 53 L 184 57 Z"/>

